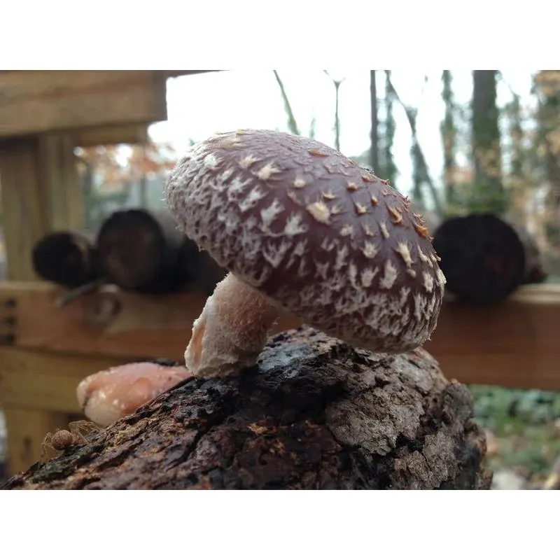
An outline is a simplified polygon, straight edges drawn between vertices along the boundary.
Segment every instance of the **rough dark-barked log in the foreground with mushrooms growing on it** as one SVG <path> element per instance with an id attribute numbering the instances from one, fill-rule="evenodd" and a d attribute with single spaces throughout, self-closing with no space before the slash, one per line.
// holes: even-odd
<path id="1" fill-rule="evenodd" d="M 426 351 L 383 356 L 300 328 L 255 367 L 181 381 L 1 488 L 489 489 L 472 414 Z"/>

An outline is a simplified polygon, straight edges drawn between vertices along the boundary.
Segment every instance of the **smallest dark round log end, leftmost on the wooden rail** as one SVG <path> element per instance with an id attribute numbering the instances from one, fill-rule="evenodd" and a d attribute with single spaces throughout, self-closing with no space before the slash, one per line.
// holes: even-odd
<path id="1" fill-rule="evenodd" d="M 77 288 L 97 277 L 92 239 L 78 232 L 53 232 L 33 247 L 33 269 L 44 280 Z"/>

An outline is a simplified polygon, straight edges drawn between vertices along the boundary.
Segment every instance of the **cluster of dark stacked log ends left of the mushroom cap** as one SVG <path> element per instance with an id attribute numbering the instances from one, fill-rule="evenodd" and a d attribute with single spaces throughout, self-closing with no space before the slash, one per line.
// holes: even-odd
<path id="1" fill-rule="evenodd" d="M 38 276 L 73 290 L 111 283 L 135 293 L 188 289 L 210 295 L 226 274 L 167 211 L 147 209 L 113 212 L 96 239 L 51 233 L 34 246 L 32 259 Z"/>

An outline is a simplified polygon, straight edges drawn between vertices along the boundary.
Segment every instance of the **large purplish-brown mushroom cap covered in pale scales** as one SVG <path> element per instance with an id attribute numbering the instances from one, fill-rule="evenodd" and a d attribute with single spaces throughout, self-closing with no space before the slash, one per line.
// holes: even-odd
<path id="1" fill-rule="evenodd" d="M 445 278 L 423 218 L 321 142 L 216 134 L 179 161 L 165 195 L 216 262 L 328 335 L 391 353 L 435 329 Z"/>

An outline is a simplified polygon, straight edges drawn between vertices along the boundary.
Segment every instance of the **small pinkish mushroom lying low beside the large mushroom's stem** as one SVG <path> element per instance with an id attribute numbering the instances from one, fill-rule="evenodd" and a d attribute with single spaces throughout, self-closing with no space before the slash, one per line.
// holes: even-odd
<path id="1" fill-rule="evenodd" d="M 87 418 L 109 426 L 189 377 L 180 365 L 129 363 L 86 377 L 76 395 Z"/>

